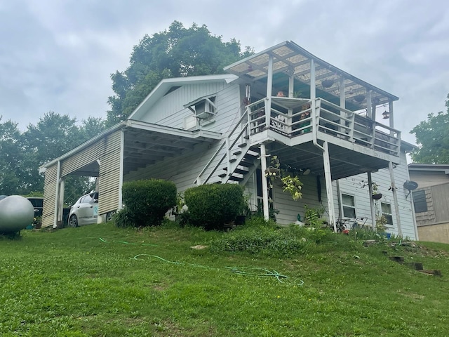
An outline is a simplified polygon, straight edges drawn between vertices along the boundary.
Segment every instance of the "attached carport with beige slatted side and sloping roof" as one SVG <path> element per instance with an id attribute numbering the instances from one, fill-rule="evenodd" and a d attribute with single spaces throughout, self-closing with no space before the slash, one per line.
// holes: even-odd
<path id="1" fill-rule="evenodd" d="M 109 211 L 122 207 L 123 176 L 220 138 L 221 133 L 212 131 L 187 131 L 142 121 L 116 124 L 39 168 L 39 173 L 45 174 L 42 226 L 62 225 L 67 176 L 98 178 L 98 222 L 101 223 Z"/>

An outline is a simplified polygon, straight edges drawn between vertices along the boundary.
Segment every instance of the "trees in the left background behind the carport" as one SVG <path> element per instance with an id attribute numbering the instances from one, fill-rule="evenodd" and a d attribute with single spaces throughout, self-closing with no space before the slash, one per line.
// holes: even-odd
<path id="1" fill-rule="evenodd" d="M 0 194 L 43 194 L 43 176 L 39 166 L 60 157 L 105 129 L 105 121 L 89 117 L 77 124 L 67 114 L 48 112 L 36 125 L 20 132 L 17 123 L 0 118 Z M 87 177 L 68 177 L 65 201 L 71 204 L 90 192 Z"/>

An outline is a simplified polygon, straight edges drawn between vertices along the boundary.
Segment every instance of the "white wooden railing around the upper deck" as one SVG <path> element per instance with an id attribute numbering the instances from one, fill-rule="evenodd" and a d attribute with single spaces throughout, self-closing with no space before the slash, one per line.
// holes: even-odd
<path id="1" fill-rule="evenodd" d="M 246 107 L 249 135 L 267 128 L 289 138 L 307 133 L 326 133 L 399 157 L 401 133 L 389 126 L 344 109 L 322 98 L 263 98 Z M 319 137 L 318 137 L 319 138 Z"/>

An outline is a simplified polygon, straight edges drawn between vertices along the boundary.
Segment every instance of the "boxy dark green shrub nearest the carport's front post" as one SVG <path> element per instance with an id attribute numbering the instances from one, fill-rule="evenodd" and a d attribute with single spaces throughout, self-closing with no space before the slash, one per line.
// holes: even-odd
<path id="1" fill-rule="evenodd" d="M 123 218 L 123 223 L 131 220 L 135 227 L 160 225 L 166 212 L 176 205 L 176 186 L 167 180 L 123 183 L 122 193 L 126 205 L 126 221 Z"/>

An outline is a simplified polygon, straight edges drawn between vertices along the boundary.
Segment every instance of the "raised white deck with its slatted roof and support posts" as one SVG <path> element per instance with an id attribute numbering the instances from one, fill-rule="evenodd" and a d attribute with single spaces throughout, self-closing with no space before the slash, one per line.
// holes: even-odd
<path id="1" fill-rule="evenodd" d="M 398 97 L 330 65 L 292 41 L 235 62 L 225 71 L 237 75 L 246 86 L 246 137 L 250 144 L 260 145 L 262 173 L 267 169 L 268 145 L 280 158 L 282 154 L 297 158 L 297 164 L 302 165 L 297 167 L 307 164 L 323 173 L 329 220 L 335 227 L 332 180 L 366 172 L 370 183 L 371 172 L 389 167 L 398 215 L 392 173 L 401 145 L 393 119 L 393 102 Z M 274 89 L 284 88 L 288 88 L 288 98 L 274 97 Z M 261 93 L 263 89 L 266 93 Z M 258 101 L 251 103 L 253 98 Z M 384 118 L 389 118 L 389 126 L 377 123 L 375 116 L 377 107 L 387 105 L 389 112 L 385 110 Z M 306 118 L 301 110 L 308 110 Z M 268 218 L 265 179 L 262 185 L 264 216 Z M 372 192 L 371 184 L 369 187 Z M 372 199 L 370 203 L 374 224 Z M 398 218 L 397 222 L 401 234 Z"/>

